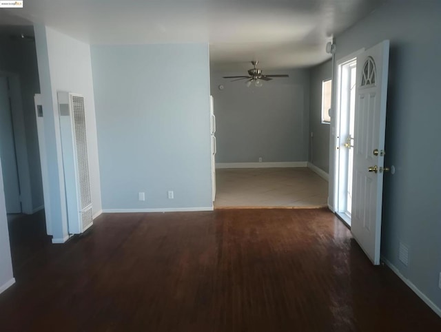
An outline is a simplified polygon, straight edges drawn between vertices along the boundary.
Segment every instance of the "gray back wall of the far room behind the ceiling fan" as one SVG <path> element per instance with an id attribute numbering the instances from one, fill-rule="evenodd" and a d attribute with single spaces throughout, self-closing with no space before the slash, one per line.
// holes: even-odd
<path id="1" fill-rule="evenodd" d="M 268 72 L 269 73 L 269 72 Z M 263 87 L 247 87 L 222 76 L 243 72 L 212 72 L 216 115 L 216 163 L 307 161 L 309 70 L 271 71 L 289 74 Z M 219 90 L 218 86 L 225 88 Z"/>

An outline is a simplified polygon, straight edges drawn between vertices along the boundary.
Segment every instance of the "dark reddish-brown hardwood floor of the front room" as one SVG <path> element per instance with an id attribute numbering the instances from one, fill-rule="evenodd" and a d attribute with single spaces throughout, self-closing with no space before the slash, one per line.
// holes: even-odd
<path id="1" fill-rule="evenodd" d="M 0 331 L 441 331 L 325 209 L 107 214 L 64 245 L 20 238 Z"/>

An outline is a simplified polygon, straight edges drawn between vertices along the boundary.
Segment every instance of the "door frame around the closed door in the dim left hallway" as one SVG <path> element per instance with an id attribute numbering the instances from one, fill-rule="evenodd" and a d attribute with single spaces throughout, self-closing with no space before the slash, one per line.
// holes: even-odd
<path id="1" fill-rule="evenodd" d="M 32 208 L 32 191 L 20 76 L 14 72 L 6 72 L 3 70 L 0 70 L 0 76 L 7 77 L 10 84 L 12 127 L 14 128 L 15 154 L 17 156 L 17 171 L 19 174 L 21 212 L 23 214 L 32 214 L 34 211 Z"/>

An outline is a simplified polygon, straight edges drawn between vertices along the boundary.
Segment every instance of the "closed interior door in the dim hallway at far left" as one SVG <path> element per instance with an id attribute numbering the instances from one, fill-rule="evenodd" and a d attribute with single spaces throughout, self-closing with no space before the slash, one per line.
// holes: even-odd
<path id="1" fill-rule="evenodd" d="M 0 77 L 0 158 L 5 190 L 6 213 L 20 214 L 20 187 L 15 155 L 14 129 L 9 98 L 8 78 Z"/>

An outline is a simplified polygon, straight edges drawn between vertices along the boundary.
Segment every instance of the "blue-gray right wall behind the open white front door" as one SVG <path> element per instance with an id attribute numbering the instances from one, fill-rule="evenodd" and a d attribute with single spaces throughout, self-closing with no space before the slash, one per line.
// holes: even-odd
<path id="1" fill-rule="evenodd" d="M 440 1 L 389 1 L 336 39 L 336 59 L 391 41 L 385 165 L 396 174 L 384 176 L 382 255 L 438 307 L 440 13 Z M 400 241 L 409 246 L 408 267 L 398 260 Z"/>

